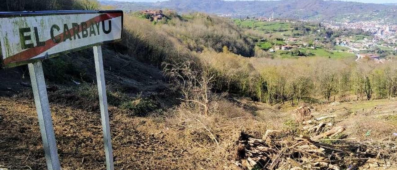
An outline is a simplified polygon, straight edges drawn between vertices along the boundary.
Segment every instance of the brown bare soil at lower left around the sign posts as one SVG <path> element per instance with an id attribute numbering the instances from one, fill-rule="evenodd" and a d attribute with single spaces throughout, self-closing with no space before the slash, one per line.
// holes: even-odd
<path id="1" fill-rule="evenodd" d="M 63 169 L 104 169 L 100 113 L 54 104 L 51 111 Z M 186 161 L 181 149 L 137 129 L 146 126 L 145 118 L 128 118 L 115 111 L 110 108 L 118 169 L 184 169 L 177 164 Z M 46 169 L 34 103 L 2 98 L 0 112 L 0 164 L 10 169 Z"/>

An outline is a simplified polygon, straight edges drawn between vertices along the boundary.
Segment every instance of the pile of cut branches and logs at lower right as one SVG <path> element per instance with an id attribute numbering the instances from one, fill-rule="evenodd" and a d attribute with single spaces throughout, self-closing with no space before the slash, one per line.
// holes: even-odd
<path id="1" fill-rule="evenodd" d="M 285 135 L 283 131 L 268 130 L 262 139 L 254 139 L 241 132 L 237 141 L 236 161 L 243 169 L 320 169 L 342 170 L 390 167 L 389 153 L 396 152 L 391 142 L 384 150 L 379 145 L 368 145 L 340 137 L 344 127 L 333 127 L 335 116 L 323 116 L 304 122 L 303 134 Z M 337 142 L 335 142 L 337 141 Z M 383 152 L 387 151 L 387 152 Z"/>

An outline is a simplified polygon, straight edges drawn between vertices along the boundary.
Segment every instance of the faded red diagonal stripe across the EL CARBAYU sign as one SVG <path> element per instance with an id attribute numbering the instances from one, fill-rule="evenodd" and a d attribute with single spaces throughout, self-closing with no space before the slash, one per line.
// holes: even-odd
<path id="1" fill-rule="evenodd" d="M 95 22 L 101 22 L 101 21 L 105 21 L 108 19 L 112 19 L 115 17 L 119 17 L 123 15 L 122 13 L 107 13 L 107 14 L 101 14 L 98 15 L 88 21 L 85 21 L 86 25 L 87 25 L 87 29 L 89 29 L 92 25 L 92 23 Z M 83 31 L 83 25 L 79 25 L 79 33 L 81 33 Z M 71 29 L 69 29 L 70 32 L 70 36 L 73 37 L 75 35 L 74 31 L 73 31 L 73 27 Z M 57 36 L 55 36 L 55 39 L 60 39 L 61 43 L 63 43 L 64 41 L 64 34 L 63 32 Z M 45 45 L 44 46 L 35 46 L 33 48 L 29 48 L 23 52 L 20 52 L 18 54 L 15 54 L 11 57 L 8 57 L 6 59 L 4 59 L 4 64 L 10 64 L 10 63 L 15 63 L 15 62 L 21 62 L 21 61 L 25 61 L 25 60 L 29 60 L 41 53 L 43 53 L 46 50 L 49 50 L 50 48 L 61 44 L 61 43 L 55 43 L 54 41 L 52 41 L 52 39 L 49 39 L 47 41 L 45 41 Z"/>

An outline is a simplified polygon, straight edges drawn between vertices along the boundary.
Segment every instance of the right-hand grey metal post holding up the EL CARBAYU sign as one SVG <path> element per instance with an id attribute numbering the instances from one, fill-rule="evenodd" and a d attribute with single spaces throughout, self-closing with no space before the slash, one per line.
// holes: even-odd
<path id="1" fill-rule="evenodd" d="M 93 50 L 94 50 L 95 70 L 96 70 L 96 82 L 98 84 L 103 142 L 105 144 L 106 170 L 114 170 L 112 140 L 110 135 L 108 99 L 106 96 L 105 72 L 103 70 L 103 60 L 102 60 L 102 47 L 94 46 Z"/>

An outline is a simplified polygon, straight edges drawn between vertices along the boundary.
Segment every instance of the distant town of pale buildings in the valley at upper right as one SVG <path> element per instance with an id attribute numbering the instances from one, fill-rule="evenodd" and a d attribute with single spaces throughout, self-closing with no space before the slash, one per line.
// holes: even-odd
<path id="1" fill-rule="evenodd" d="M 220 17 L 232 17 L 231 14 L 218 15 Z M 347 20 L 347 19 L 345 19 Z M 245 17 L 241 18 L 241 21 L 251 21 L 251 22 L 284 22 L 297 24 L 299 22 L 303 23 L 313 23 L 311 20 L 293 20 L 293 19 L 277 19 L 274 18 L 274 14 L 270 17 Z M 384 20 L 376 21 L 345 21 L 345 22 L 335 22 L 324 20 L 318 23 L 319 27 L 316 32 L 322 32 L 331 29 L 332 31 L 345 32 L 348 30 L 359 30 L 362 33 L 368 35 L 333 35 L 336 37 L 324 36 L 324 39 L 329 39 L 331 44 L 335 47 L 326 48 L 330 51 L 338 51 L 343 49 L 345 52 L 355 54 L 357 60 L 370 59 L 375 60 L 378 63 L 383 63 L 385 61 L 390 61 L 391 58 L 386 55 L 382 55 L 384 52 L 397 51 L 397 24 L 388 23 Z M 283 35 L 284 33 L 281 33 Z M 299 38 L 301 37 L 301 38 Z M 278 46 L 274 45 L 272 48 L 268 49 L 269 52 L 274 53 L 277 50 L 293 50 L 294 48 L 307 48 L 315 49 L 319 47 L 325 47 L 325 43 L 320 43 L 318 40 L 314 44 L 310 45 L 308 42 L 303 41 L 302 36 L 292 36 L 292 38 L 283 39 L 287 44 Z"/>

